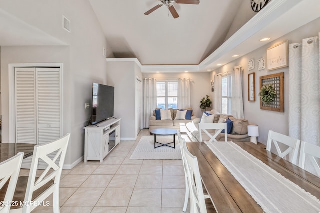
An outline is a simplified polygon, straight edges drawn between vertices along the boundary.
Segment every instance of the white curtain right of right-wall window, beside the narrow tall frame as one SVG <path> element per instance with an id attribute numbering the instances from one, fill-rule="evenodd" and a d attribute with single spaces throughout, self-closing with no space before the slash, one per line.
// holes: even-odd
<path id="1" fill-rule="evenodd" d="M 232 115 L 236 118 L 244 118 L 242 82 L 242 69 L 239 66 L 235 66 L 234 84 L 232 86 Z"/>

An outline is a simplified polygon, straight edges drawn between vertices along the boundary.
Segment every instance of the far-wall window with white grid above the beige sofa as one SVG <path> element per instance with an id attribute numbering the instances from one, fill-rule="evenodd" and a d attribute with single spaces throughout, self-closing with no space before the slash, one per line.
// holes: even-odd
<path id="1" fill-rule="evenodd" d="M 176 109 L 178 101 L 177 81 L 156 82 L 156 105 L 161 109 Z"/>

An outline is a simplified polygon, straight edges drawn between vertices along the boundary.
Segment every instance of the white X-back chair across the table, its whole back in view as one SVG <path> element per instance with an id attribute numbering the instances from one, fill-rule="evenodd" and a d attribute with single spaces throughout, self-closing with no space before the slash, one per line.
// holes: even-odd
<path id="1" fill-rule="evenodd" d="M 296 164 L 297 158 L 298 158 L 298 152 L 299 152 L 299 146 L 300 146 L 300 140 L 296 138 L 292 138 L 287 135 L 283 135 L 281 133 L 274 132 L 272 130 L 269 130 L 268 134 L 268 141 L 266 144 L 266 150 L 271 152 L 271 145 L 274 144 L 277 155 L 281 158 L 286 157 L 289 155 L 289 161 L 292 164 Z M 280 144 L 286 145 L 285 148 L 282 147 L 282 150 L 279 146 Z"/>

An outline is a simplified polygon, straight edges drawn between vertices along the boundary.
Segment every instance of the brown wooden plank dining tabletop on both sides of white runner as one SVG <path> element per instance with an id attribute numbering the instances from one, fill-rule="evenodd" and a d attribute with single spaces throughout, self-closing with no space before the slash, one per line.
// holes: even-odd
<path id="1" fill-rule="evenodd" d="M 320 199 L 320 178 L 267 151 L 264 145 L 234 142 L 285 178 Z M 241 186 L 204 142 L 186 142 L 198 159 L 203 184 L 219 213 L 263 213 L 261 206 Z"/>

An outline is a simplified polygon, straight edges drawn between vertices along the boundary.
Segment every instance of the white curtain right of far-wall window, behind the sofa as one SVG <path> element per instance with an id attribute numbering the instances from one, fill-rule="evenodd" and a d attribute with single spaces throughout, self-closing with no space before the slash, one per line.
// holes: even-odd
<path id="1" fill-rule="evenodd" d="M 190 79 L 178 79 L 178 109 L 185 109 L 191 106 L 190 103 Z"/>

